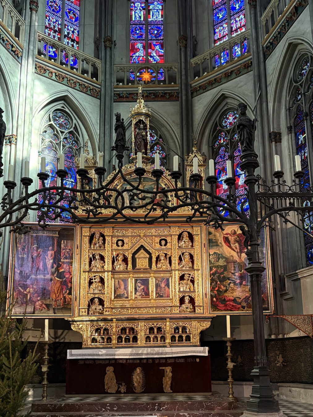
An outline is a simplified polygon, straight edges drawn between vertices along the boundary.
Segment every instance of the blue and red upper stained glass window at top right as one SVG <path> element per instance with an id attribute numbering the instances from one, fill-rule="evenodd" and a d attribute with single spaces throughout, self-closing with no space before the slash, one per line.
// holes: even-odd
<path id="1" fill-rule="evenodd" d="M 212 0 L 212 2 L 215 45 L 246 30 L 245 0 Z M 242 45 L 242 50 L 244 48 L 245 45 Z M 232 50 L 233 58 L 240 56 L 239 51 L 240 45 L 238 44 L 237 47 L 235 45 Z"/>

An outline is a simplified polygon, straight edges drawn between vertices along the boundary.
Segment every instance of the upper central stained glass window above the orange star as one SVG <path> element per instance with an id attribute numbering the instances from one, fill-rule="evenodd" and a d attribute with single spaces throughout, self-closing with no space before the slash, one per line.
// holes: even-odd
<path id="1" fill-rule="evenodd" d="M 130 63 L 164 63 L 163 1 L 130 2 Z"/>

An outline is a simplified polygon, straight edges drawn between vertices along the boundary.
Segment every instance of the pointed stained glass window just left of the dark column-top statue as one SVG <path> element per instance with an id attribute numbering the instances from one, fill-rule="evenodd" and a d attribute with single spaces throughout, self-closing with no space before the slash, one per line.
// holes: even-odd
<path id="1" fill-rule="evenodd" d="M 233 163 L 233 173 L 235 175 L 235 194 L 237 209 L 241 210 L 242 203 L 244 202 L 243 209 L 245 213 L 248 212 L 249 206 L 246 200 L 247 186 L 245 185 L 245 173 L 240 168 L 240 146 L 238 143 L 235 123 L 238 117 L 236 110 L 227 111 L 220 117 L 217 125 L 216 132 L 213 138 L 213 158 L 215 159 L 215 174 L 217 176 L 217 195 L 222 198 L 228 197 L 228 187 L 225 184 L 227 178 L 227 160 L 230 159 Z M 224 215 L 228 215 L 225 211 Z"/>

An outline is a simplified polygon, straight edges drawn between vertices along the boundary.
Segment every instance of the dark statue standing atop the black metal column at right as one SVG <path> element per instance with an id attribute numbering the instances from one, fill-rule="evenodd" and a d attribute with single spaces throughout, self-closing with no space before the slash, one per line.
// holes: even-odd
<path id="1" fill-rule="evenodd" d="M 247 105 L 239 103 L 237 106 L 239 117 L 236 120 L 236 130 L 241 153 L 254 152 L 255 119 L 247 116 Z"/>

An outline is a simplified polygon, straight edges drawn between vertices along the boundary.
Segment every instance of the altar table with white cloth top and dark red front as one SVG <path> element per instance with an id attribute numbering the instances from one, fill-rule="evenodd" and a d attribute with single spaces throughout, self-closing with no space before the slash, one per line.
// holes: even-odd
<path id="1" fill-rule="evenodd" d="M 108 369 L 109 367 L 113 368 Z M 174 393 L 210 393 L 211 369 L 207 347 L 68 350 L 66 394 L 107 394 L 105 377 L 114 372 L 114 394 L 137 394 L 133 374 L 141 368 L 141 394 L 164 392 L 165 369 L 171 367 Z"/>

